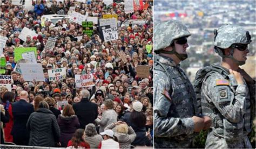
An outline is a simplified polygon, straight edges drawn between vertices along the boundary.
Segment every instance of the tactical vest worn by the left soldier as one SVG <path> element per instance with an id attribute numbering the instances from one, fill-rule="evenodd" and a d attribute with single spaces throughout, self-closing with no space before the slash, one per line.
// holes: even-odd
<path id="1" fill-rule="evenodd" d="M 167 117 L 187 118 L 197 115 L 196 94 L 194 94 L 193 86 L 183 70 L 160 63 L 158 59 L 154 61 L 154 70 L 160 70 L 171 80 L 172 87 L 168 92 L 172 104 Z"/>

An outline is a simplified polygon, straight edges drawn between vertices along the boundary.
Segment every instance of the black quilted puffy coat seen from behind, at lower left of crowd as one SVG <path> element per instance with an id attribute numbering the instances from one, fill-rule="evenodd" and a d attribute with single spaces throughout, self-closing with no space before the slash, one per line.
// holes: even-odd
<path id="1" fill-rule="evenodd" d="M 59 142 L 60 129 L 56 117 L 46 108 L 33 112 L 26 124 L 30 131 L 29 146 L 55 147 Z"/>

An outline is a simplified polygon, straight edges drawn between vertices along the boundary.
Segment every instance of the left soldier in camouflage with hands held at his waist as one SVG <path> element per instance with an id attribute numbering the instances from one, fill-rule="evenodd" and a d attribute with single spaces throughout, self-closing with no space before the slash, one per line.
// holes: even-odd
<path id="1" fill-rule="evenodd" d="M 193 86 L 180 61 L 187 58 L 191 34 L 177 20 L 154 27 L 154 147 L 191 147 L 194 132 L 208 129 L 210 117 L 199 117 Z"/>

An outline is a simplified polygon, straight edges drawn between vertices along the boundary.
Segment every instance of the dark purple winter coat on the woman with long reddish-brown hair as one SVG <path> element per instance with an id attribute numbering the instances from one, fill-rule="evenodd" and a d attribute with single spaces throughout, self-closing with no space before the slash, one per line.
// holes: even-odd
<path id="1" fill-rule="evenodd" d="M 60 128 L 60 144 L 62 144 L 62 147 L 66 147 L 69 140 L 80 126 L 78 118 L 76 115 L 70 117 L 59 115 L 57 121 Z"/>

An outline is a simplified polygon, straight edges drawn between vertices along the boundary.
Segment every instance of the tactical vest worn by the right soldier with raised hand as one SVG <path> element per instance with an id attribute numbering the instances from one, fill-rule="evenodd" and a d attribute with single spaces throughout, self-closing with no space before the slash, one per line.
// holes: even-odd
<path id="1" fill-rule="evenodd" d="M 194 90 L 196 92 L 197 102 L 198 102 L 198 109 L 199 112 L 203 113 L 203 115 L 211 115 L 213 120 L 213 133 L 216 136 L 225 138 L 227 141 L 235 141 L 240 140 L 244 134 L 248 134 L 251 132 L 251 109 L 250 109 L 250 94 L 246 96 L 246 110 L 244 116 L 242 116 L 242 120 L 238 123 L 232 123 L 228 121 L 221 113 L 218 111 L 217 108 L 212 103 L 208 103 L 205 99 L 205 96 L 201 95 L 201 86 L 203 82 L 213 73 L 219 73 L 226 80 L 229 80 L 230 88 L 235 93 L 235 89 L 237 86 L 233 86 L 231 84 L 234 80 L 230 80 L 228 76 L 229 73 L 224 68 L 212 65 L 208 67 L 204 67 L 200 69 L 196 74 Z M 232 104 L 233 100 L 231 100 L 230 104 Z"/>

